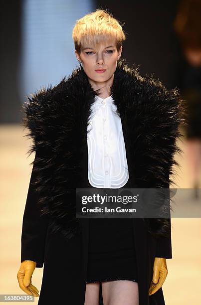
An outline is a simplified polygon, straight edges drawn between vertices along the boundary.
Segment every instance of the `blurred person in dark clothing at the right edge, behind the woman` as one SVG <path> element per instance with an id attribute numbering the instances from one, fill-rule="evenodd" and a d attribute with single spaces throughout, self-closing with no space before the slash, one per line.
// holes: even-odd
<path id="1" fill-rule="evenodd" d="M 180 92 L 187 109 L 185 136 L 189 178 L 194 197 L 199 200 L 201 177 L 201 1 L 182 0 L 174 28 L 178 35 L 182 67 Z"/>

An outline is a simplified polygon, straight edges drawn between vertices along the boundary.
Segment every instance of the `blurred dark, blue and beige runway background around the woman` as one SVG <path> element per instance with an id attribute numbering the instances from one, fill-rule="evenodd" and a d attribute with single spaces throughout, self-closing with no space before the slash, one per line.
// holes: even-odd
<path id="1" fill-rule="evenodd" d="M 22 216 L 34 156 L 20 123 L 26 96 L 55 85 L 78 65 L 71 37 L 77 19 L 96 8 L 124 23 L 122 57 L 140 65 L 142 75 L 179 88 L 188 126 L 180 126 L 183 151 L 175 158 L 178 188 L 201 196 L 201 0 L 8 0 L 0 9 L 0 294 L 24 294 L 16 278 L 20 267 Z M 175 186 L 173 186 L 175 187 Z M 186 199 L 186 198 L 185 198 Z M 166 305 L 201 304 L 201 219 L 172 219 L 173 259 L 163 285 Z M 40 291 L 42 269 L 32 283 Z M 37 304 L 38 298 L 35 298 Z"/>

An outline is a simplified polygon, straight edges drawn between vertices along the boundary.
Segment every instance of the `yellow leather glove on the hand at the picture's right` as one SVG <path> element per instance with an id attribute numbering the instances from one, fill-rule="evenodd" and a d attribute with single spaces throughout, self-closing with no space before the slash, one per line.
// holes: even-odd
<path id="1" fill-rule="evenodd" d="M 149 296 L 153 295 L 165 282 L 168 275 L 168 268 L 166 264 L 166 258 L 155 257 L 154 260 L 154 273 L 152 282 L 149 288 Z"/>

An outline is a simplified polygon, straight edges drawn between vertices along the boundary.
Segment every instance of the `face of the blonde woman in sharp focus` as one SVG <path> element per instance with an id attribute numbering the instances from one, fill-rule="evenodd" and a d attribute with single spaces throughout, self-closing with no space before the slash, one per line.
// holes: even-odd
<path id="1" fill-rule="evenodd" d="M 117 51 L 115 39 L 109 39 L 97 47 L 87 43 L 81 48 L 80 55 L 75 50 L 76 57 L 82 62 L 84 72 L 92 82 L 107 82 L 117 68 L 117 60 L 120 58 L 122 46 Z M 105 69 L 100 73 L 97 69 Z"/>

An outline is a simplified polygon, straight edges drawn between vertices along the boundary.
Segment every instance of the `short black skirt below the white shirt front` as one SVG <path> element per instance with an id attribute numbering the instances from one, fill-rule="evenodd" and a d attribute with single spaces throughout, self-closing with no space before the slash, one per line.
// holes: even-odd
<path id="1" fill-rule="evenodd" d="M 132 219 L 90 218 L 86 283 L 115 280 L 138 282 Z"/>

